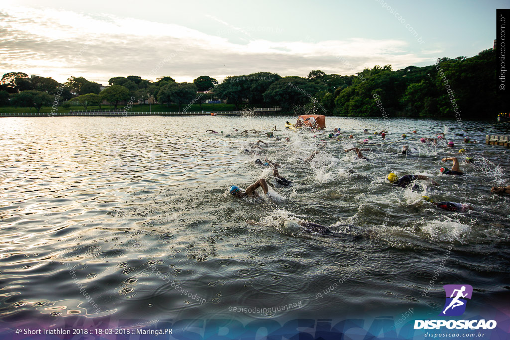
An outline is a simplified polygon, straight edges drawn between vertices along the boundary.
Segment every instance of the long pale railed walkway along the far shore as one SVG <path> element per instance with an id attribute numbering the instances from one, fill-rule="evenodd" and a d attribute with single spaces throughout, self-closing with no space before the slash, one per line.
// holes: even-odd
<path id="1" fill-rule="evenodd" d="M 253 108 L 244 111 L 151 111 L 131 112 L 124 110 L 80 110 L 72 112 L 21 112 L 21 113 L 0 113 L 0 117 L 126 117 L 126 116 L 211 116 L 215 112 L 218 116 L 240 116 L 247 112 L 253 114 L 279 113 L 282 108 Z"/>

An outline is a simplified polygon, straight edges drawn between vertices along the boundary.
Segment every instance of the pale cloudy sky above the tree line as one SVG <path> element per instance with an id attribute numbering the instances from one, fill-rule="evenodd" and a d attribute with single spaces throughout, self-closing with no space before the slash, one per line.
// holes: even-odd
<path id="1" fill-rule="evenodd" d="M 341 75 L 492 48 L 510 0 L 3 0 L 0 72 L 108 84 L 114 76 Z"/>

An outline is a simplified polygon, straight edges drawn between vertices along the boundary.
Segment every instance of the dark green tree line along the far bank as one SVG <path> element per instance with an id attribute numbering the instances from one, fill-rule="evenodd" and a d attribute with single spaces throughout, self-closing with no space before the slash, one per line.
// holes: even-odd
<path id="1" fill-rule="evenodd" d="M 256 72 L 227 76 L 221 84 L 202 75 L 192 83 L 178 83 L 170 76 L 157 81 L 137 75 L 112 77 L 108 87 L 84 77 L 70 77 L 60 84 L 52 78 L 22 72 L 4 74 L 0 84 L 0 104 L 21 107 L 60 105 L 79 102 L 87 109 L 106 100 L 116 108 L 133 97 L 145 102 L 177 104 L 179 110 L 207 99 L 226 99 L 236 110 L 250 107 L 281 106 L 284 112 L 371 117 L 380 116 L 374 96 L 384 103 L 391 116 L 481 119 L 506 110 L 496 75 L 496 50 L 487 49 L 466 58 L 438 59 L 434 65 L 408 66 L 394 71 L 391 65 L 374 66 L 352 75 L 311 71 L 307 77 Z M 446 85 L 445 85 L 446 84 Z M 201 93 L 206 90 L 208 93 Z M 456 111 L 452 107 L 452 98 Z M 459 111 L 459 109 L 462 109 Z M 506 111 L 505 111 L 506 112 Z"/>

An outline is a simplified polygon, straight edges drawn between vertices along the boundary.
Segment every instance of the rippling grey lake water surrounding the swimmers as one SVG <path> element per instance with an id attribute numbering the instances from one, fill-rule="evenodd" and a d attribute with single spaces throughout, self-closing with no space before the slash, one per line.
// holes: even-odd
<path id="1" fill-rule="evenodd" d="M 328 140 L 321 149 L 313 133 L 281 131 L 286 120 L 295 118 L 2 118 L 0 316 L 241 318 L 233 307 L 299 303 L 243 317 L 318 318 L 409 306 L 439 312 L 448 283 L 471 284 L 486 298 L 506 294 L 510 196 L 490 187 L 510 184 L 510 162 L 507 149 L 484 139 L 508 130 L 327 118 L 328 131 L 340 126 L 356 140 L 373 136 L 364 128 L 389 131 L 384 143 L 370 139 L 366 161 L 343 151 L 352 140 Z M 273 125 L 282 141 L 240 134 Z M 440 132 L 454 149 L 418 141 Z M 461 133 L 481 143 L 463 145 Z M 259 154 L 245 151 L 260 139 L 268 145 Z M 402 145 L 412 151 L 406 158 Z M 475 158 L 461 162 L 467 176 L 440 175 L 441 158 L 461 147 Z M 269 169 L 253 163 L 265 156 L 281 163 L 292 187 L 279 187 Z M 386 179 L 391 170 L 425 174 L 440 186 L 395 189 Z M 233 184 L 246 188 L 262 177 L 271 199 L 227 194 Z M 438 210 L 425 194 L 476 210 Z M 289 220 L 328 225 L 333 234 L 289 229 Z"/>

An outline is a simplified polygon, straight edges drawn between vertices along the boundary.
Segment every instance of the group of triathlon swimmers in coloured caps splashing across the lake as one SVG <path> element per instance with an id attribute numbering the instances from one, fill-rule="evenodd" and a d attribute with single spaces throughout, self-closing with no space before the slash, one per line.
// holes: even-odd
<path id="1" fill-rule="evenodd" d="M 237 129 L 234 129 L 234 130 L 235 130 L 235 132 L 237 132 Z M 251 129 L 251 130 L 244 130 L 241 134 L 253 133 L 254 135 L 266 135 L 266 137 L 268 137 L 268 138 L 274 138 L 273 131 L 277 131 L 276 126 L 274 126 L 274 129 L 271 132 L 269 132 L 269 133 L 259 132 L 257 130 Z M 213 134 L 217 134 L 217 132 L 215 132 L 214 130 L 207 130 L 207 132 L 211 132 Z M 325 132 L 318 131 L 317 133 L 318 133 L 319 136 L 326 136 Z M 223 132 L 221 132 L 221 134 L 223 134 Z M 363 134 L 369 134 L 368 130 L 364 129 L 363 130 Z M 413 131 L 412 134 L 413 135 L 417 134 L 416 130 Z M 378 136 L 380 136 L 380 138 L 382 140 L 386 140 L 386 136 L 388 135 L 388 132 L 385 131 L 385 130 L 382 130 L 381 132 L 374 132 L 373 135 L 378 135 Z M 228 135 L 226 135 L 226 136 L 228 136 Z M 462 136 L 462 135 L 459 135 L 459 136 Z M 317 136 L 315 136 L 315 137 L 317 137 Z M 341 140 L 342 137 L 343 136 L 342 136 L 342 133 L 341 133 L 339 127 L 335 128 L 333 130 L 333 132 L 327 134 L 327 138 L 328 139 Z M 464 136 L 462 136 L 462 137 L 464 137 Z M 354 137 L 352 135 L 350 135 L 347 138 L 348 139 L 353 139 Z M 402 135 L 402 140 L 405 140 L 406 138 L 407 138 L 407 135 L 403 134 Z M 372 139 L 372 137 L 369 137 L 369 139 Z M 275 140 L 280 140 L 280 139 L 276 138 Z M 454 145 L 455 145 L 453 142 L 446 142 L 444 134 L 438 134 L 436 136 L 436 138 L 420 138 L 419 139 L 419 141 L 421 143 L 432 143 L 434 145 L 437 145 L 438 141 L 440 141 L 440 140 L 444 141 L 444 143 L 446 144 L 447 147 L 454 147 Z M 286 138 L 286 141 L 289 141 L 289 138 Z M 325 143 L 326 141 L 327 140 L 322 140 L 323 143 L 318 145 L 319 148 L 321 148 L 321 147 L 324 148 L 325 145 L 326 145 L 326 143 Z M 361 145 L 364 145 L 368 141 L 369 141 L 368 139 L 364 139 L 364 140 L 360 140 L 358 142 Z M 464 137 L 464 143 L 465 144 L 475 144 L 477 142 L 476 141 L 471 141 L 471 139 L 469 137 Z M 253 151 L 253 150 L 256 150 L 256 149 L 262 149 L 260 147 L 260 144 L 267 145 L 266 142 L 264 142 L 262 140 L 259 140 L 256 143 L 249 143 L 248 147 L 251 150 L 246 149 L 245 151 L 249 152 L 249 151 Z M 344 151 L 345 152 L 353 151 L 356 154 L 357 158 L 359 158 L 359 159 L 366 159 L 365 156 L 363 156 L 362 151 L 369 151 L 369 150 L 370 150 L 369 148 L 353 147 L 353 148 L 350 148 L 350 149 L 346 149 Z M 314 153 L 312 153 L 307 159 L 304 160 L 304 162 L 312 161 L 314 156 L 318 152 L 319 151 L 315 151 Z M 410 152 L 410 150 L 409 150 L 409 148 L 407 146 L 404 145 L 400 152 L 402 154 L 406 155 L 408 152 Z M 459 150 L 459 153 L 464 153 L 464 152 L 466 152 L 466 149 L 464 149 L 464 148 Z M 442 162 L 444 162 L 444 163 L 450 162 L 450 161 L 452 162 L 451 169 L 446 168 L 446 167 L 441 167 L 440 172 L 443 175 L 463 176 L 464 172 L 461 170 L 460 163 L 459 163 L 459 161 L 458 161 L 458 159 L 456 157 L 449 157 L 449 158 L 443 158 L 442 159 Z M 473 162 L 474 162 L 473 158 L 471 158 L 469 156 L 466 157 L 466 163 L 471 164 Z M 292 181 L 284 178 L 282 175 L 279 174 L 278 168 L 279 168 L 280 165 L 278 163 L 272 162 L 272 161 L 268 160 L 267 158 L 264 161 L 262 161 L 260 159 L 257 159 L 254 163 L 257 166 L 260 166 L 260 167 L 272 168 L 273 169 L 273 176 L 275 178 L 275 181 L 279 185 L 284 186 L 284 187 L 292 186 Z M 403 176 L 399 177 L 394 172 L 391 172 L 388 175 L 388 180 L 392 183 L 393 187 L 399 187 L 399 188 L 413 188 L 413 189 L 416 188 L 416 189 L 420 189 L 420 186 L 416 184 L 416 182 L 419 181 L 419 180 L 429 181 L 430 184 L 433 185 L 433 186 L 438 186 L 439 185 L 437 181 L 429 178 L 428 176 L 415 175 L 415 174 L 407 174 L 407 175 L 403 175 Z M 232 194 L 234 197 L 237 197 L 237 198 L 243 198 L 243 197 L 259 198 L 260 194 L 257 192 L 258 188 L 262 188 L 262 190 L 264 191 L 264 195 L 269 196 L 269 194 L 268 194 L 269 193 L 269 187 L 268 187 L 266 179 L 264 179 L 264 178 L 259 179 L 254 184 L 248 186 L 245 190 L 242 190 L 238 186 L 233 185 L 233 186 L 231 186 L 228 189 L 228 191 L 230 192 L 230 194 Z M 497 193 L 497 194 L 510 194 L 510 185 L 508 185 L 506 187 L 492 187 L 491 188 L 491 192 L 492 193 Z M 454 212 L 467 212 L 469 210 L 474 210 L 474 207 L 472 205 L 470 205 L 470 204 L 450 202 L 450 201 L 435 202 L 429 196 L 422 196 L 422 197 L 423 197 L 423 199 L 425 201 L 430 202 L 431 204 L 433 204 L 436 207 L 441 208 L 443 210 L 454 211 Z M 305 232 L 318 232 L 318 233 L 321 233 L 321 234 L 325 234 L 325 233 L 329 232 L 328 228 L 326 226 L 323 226 L 323 225 L 320 225 L 320 224 L 316 224 L 316 223 L 312 223 L 312 222 L 308 222 L 308 221 L 289 222 L 289 223 L 286 223 L 286 224 L 289 224 L 290 227 L 296 227 L 296 228 L 299 226 L 299 227 L 301 227 L 300 230 L 301 231 L 304 230 Z M 292 225 L 290 225 L 290 224 L 292 224 Z"/>

